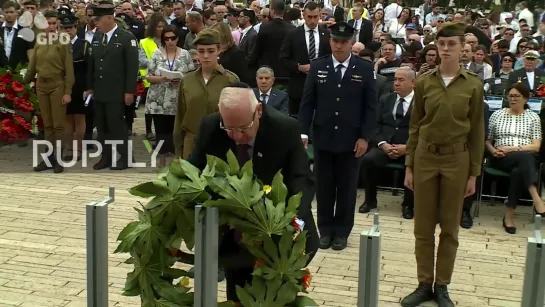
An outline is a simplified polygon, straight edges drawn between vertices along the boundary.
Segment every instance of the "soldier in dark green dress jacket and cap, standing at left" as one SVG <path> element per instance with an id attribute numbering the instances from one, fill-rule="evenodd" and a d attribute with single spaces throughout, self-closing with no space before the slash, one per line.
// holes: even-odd
<path id="1" fill-rule="evenodd" d="M 110 1 L 101 1 L 94 7 L 97 32 L 89 48 L 87 90 L 93 95 L 95 125 L 98 140 L 122 141 L 116 146 L 121 158 L 112 152 L 111 146 L 103 146 L 100 161 L 93 169 L 107 167 L 123 170 L 129 167 L 128 130 L 125 122 L 125 106 L 134 102 L 138 77 L 138 42 L 134 35 L 117 26 L 115 7 Z"/>

